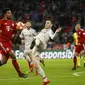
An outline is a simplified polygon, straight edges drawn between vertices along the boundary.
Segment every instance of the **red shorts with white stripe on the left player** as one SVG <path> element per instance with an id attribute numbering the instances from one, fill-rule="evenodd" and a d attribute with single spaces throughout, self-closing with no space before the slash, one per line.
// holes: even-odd
<path id="1" fill-rule="evenodd" d="M 12 50 L 12 42 L 11 41 L 0 41 L 0 50 L 3 54 L 9 54 L 9 52 Z"/>

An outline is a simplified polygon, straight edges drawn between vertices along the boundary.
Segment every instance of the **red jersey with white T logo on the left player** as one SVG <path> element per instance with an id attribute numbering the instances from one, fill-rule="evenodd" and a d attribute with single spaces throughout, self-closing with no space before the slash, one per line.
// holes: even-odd
<path id="1" fill-rule="evenodd" d="M 0 20 L 0 30 L 2 31 L 0 34 L 1 41 L 9 41 L 11 40 L 11 36 L 14 34 L 16 30 L 16 23 L 12 20 Z"/>

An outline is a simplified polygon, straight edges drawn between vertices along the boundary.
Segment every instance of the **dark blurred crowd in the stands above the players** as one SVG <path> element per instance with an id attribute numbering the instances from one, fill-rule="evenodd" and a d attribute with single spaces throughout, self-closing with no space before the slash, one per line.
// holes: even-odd
<path id="1" fill-rule="evenodd" d="M 43 29 L 45 20 L 52 19 L 63 29 L 56 43 L 72 41 L 76 22 L 80 22 L 83 29 L 85 27 L 85 0 L 1 0 L 0 17 L 4 7 L 13 10 L 16 22 L 31 20 L 37 32 Z"/>

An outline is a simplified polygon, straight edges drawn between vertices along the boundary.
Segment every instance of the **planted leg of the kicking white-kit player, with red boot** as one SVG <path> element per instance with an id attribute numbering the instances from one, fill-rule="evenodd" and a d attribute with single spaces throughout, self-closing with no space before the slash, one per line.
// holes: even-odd
<path id="1" fill-rule="evenodd" d="M 32 61 L 33 61 L 35 68 L 38 71 L 38 74 L 41 76 L 41 78 L 44 81 L 43 85 L 47 85 L 50 81 L 48 80 L 48 78 L 45 75 L 44 70 L 40 66 L 40 58 L 39 58 L 39 55 L 40 55 L 41 51 L 43 50 L 43 44 L 41 43 L 41 41 L 39 39 L 37 39 L 35 43 L 36 43 L 36 45 L 32 49 L 32 55 L 33 55 Z"/>

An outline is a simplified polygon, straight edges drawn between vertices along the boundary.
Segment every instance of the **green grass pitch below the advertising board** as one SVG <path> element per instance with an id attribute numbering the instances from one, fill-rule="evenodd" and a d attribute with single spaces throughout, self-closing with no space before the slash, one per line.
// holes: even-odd
<path id="1" fill-rule="evenodd" d="M 28 72 L 26 60 L 18 60 L 22 72 Z M 71 70 L 72 59 L 45 59 L 44 69 L 46 76 L 50 79 L 48 85 L 85 85 L 85 67 L 81 60 L 81 68 Z M 42 79 L 35 76 L 35 72 L 28 73 L 28 78 L 19 78 L 11 60 L 0 67 L 0 85 L 42 85 Z"/>

